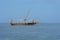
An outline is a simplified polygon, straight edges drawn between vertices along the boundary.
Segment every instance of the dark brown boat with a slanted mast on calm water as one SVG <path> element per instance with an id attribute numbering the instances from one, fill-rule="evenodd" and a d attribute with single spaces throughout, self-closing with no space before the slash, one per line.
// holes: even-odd
<path id="1" fill-rule="evenodd" d="M 29 13 L 29 12 L 28 12 L 28 13 Z M 35 24 L 37 24 L 38 22 L 36 22 L 36 21 L 34 21 L 34 20 L 32 20 L 32 21 L 30 21 L 30 22 L 27 20 L 28 13 L 27 13 L 25 19 L 23 19 L 24 22 L 21 22 L 21 23 L 19 22 L 19 23 L 17 23 L 17 22 L 13 22 L 13 19 L 11 19 L 10 24 L 11 24 L 11 25 L 35 25 Z"/>

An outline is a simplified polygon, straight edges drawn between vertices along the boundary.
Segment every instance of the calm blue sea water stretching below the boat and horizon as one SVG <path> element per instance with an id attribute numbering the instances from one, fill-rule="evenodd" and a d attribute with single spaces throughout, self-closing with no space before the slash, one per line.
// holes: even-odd
<path id="1" fill-rule="evenodd" d="M 11 26 L 1 23 L 0 40 L 60 40 L 60 23 L 33 26 Z"/>

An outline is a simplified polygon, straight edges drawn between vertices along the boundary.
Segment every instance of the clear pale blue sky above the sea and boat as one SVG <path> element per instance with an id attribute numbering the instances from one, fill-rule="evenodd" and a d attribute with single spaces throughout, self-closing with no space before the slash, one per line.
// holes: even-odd
<path id="1" fill-rule="evenodd" d="M 0 0 L 0 23 L 11 18 L 29 19 L 41 23 L 60 23 L 60 0 Z"/>

